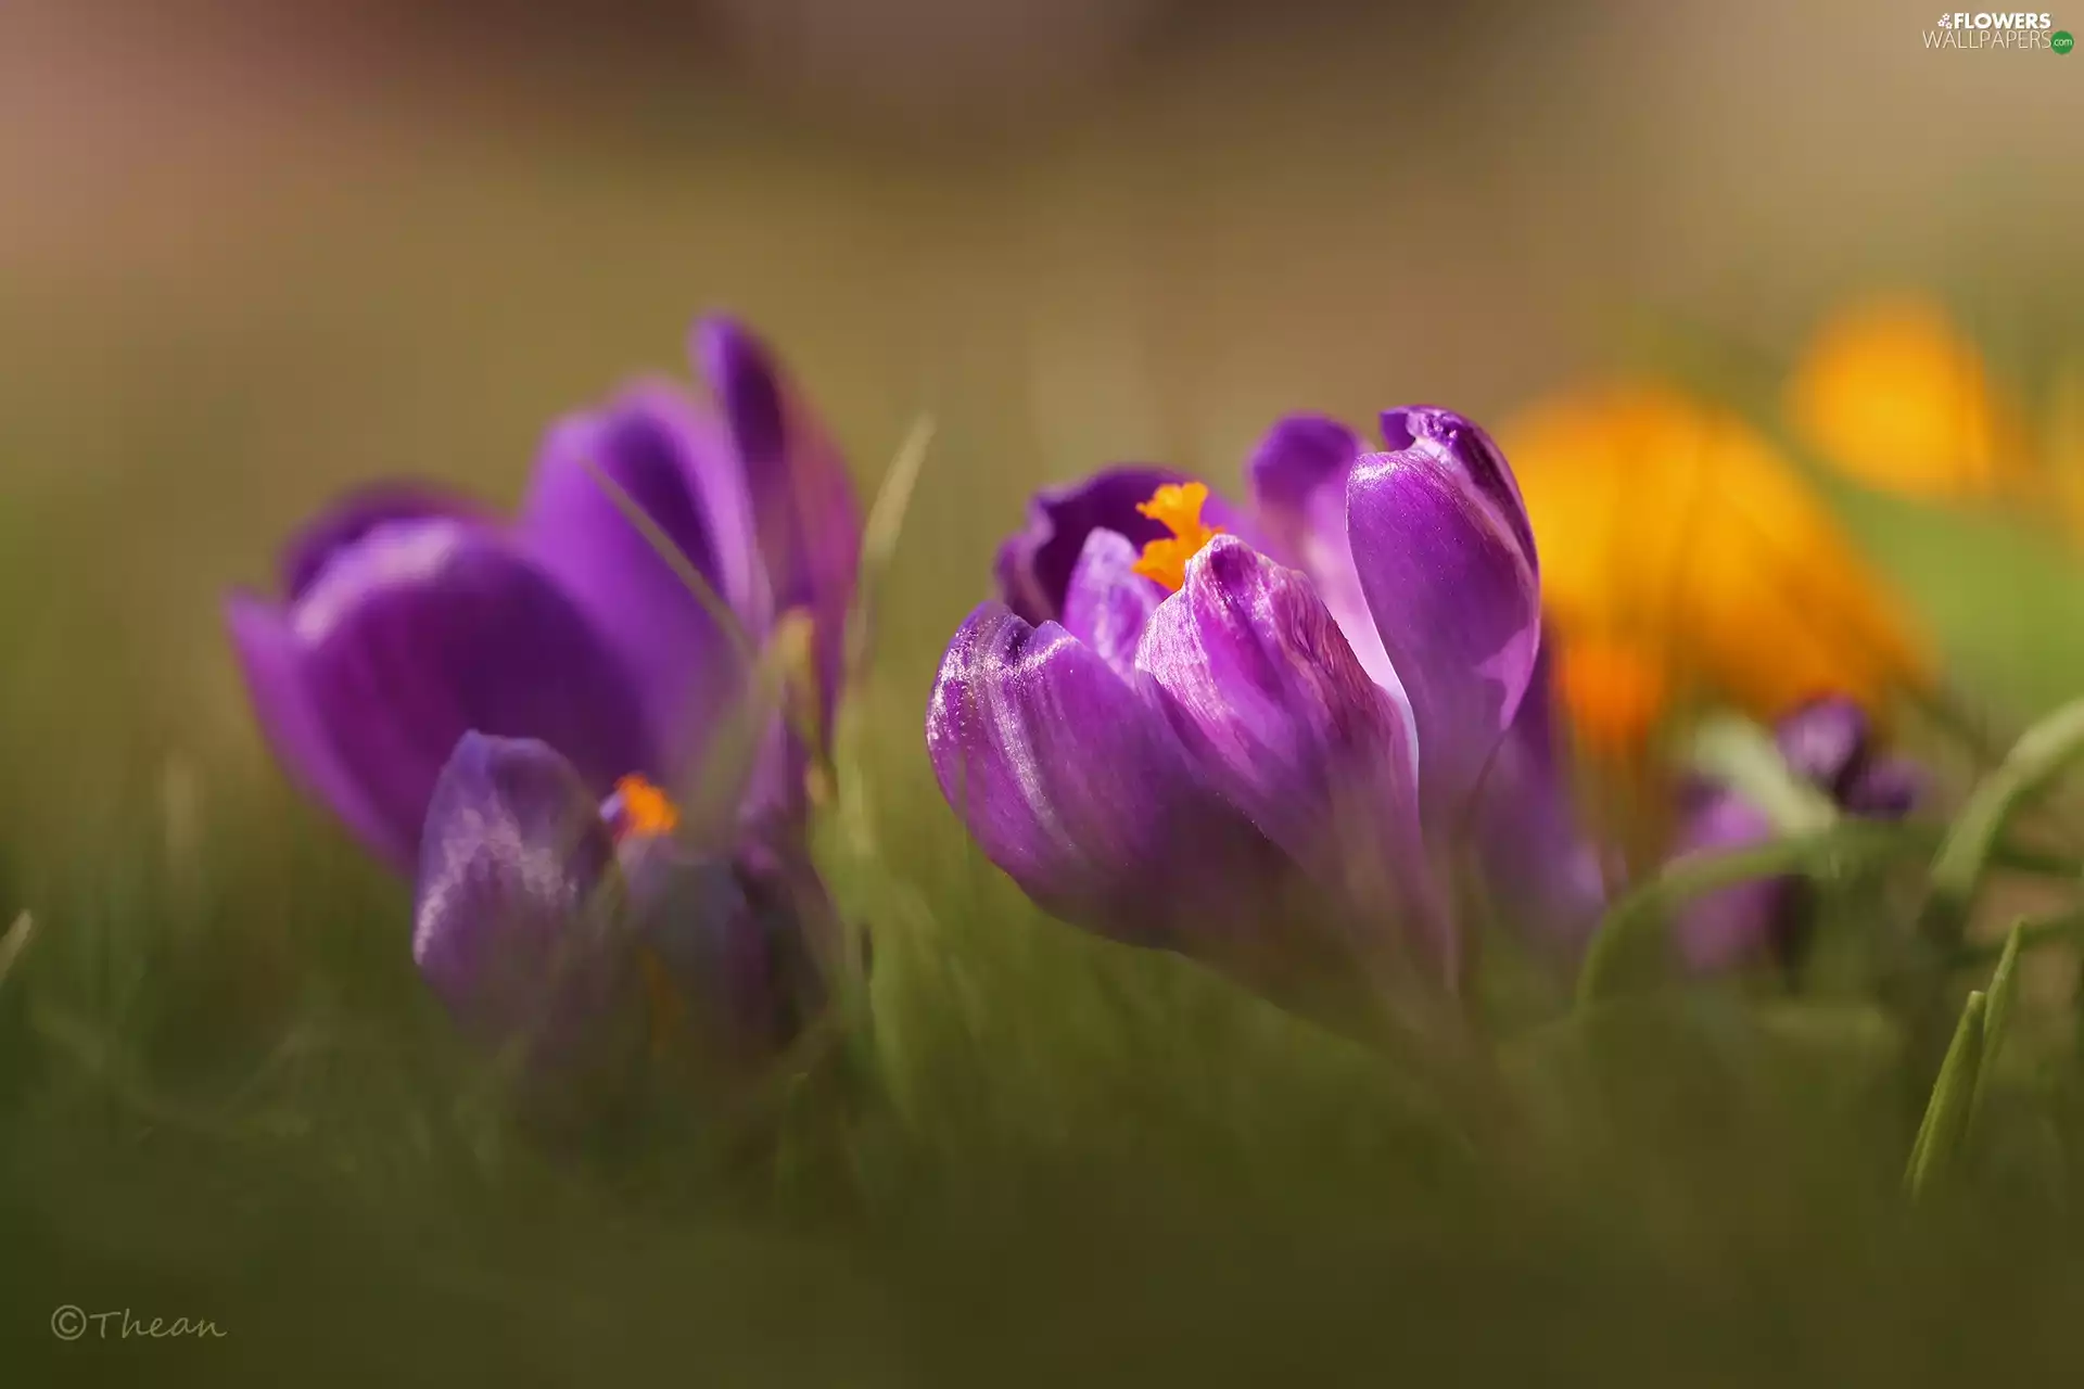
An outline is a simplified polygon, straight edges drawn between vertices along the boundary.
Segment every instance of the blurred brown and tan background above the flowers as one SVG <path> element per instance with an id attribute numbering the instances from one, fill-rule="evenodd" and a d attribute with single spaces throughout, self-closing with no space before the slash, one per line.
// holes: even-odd
<path id="1" fill-rule="evenodd" d="M 0 714 L 113 679 L 244 743 L 215 600 L 286 525 L 373 473 L 513 496 L 709 306 L 867 481 L 940 419 L 907 700 L 1042 477 L 1488 416 L 1644 310 L 1780 346 L 1938 283 L 2030 339 L 2076 300 L 2084 58 L 1930 52 L 1928 8 L 4 0 L 0 544 L 52 677 Z"/>

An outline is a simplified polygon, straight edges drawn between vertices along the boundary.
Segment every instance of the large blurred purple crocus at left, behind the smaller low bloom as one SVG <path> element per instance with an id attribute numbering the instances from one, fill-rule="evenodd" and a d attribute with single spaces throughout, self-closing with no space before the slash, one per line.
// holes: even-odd
<path id="1" fill-rule="evenodd" d="M 852 487 L 746 329 L 704 321 L 694 352 L 715 410 L 642 383 L 561 421 L 517 519 L 425 489 L 356 496 L 292 541 L 279 600 L 229 600 L 275 754 L 392 866 L 413 870 L 436 779 L 471 731 L 554 748 L 596 800 L 629 775 L 673 785 L 788 610 L 811 614 L 829 718 Z M 800 748 L 771 758 L 748 816 L 792 810 L 800 768 Z"/>

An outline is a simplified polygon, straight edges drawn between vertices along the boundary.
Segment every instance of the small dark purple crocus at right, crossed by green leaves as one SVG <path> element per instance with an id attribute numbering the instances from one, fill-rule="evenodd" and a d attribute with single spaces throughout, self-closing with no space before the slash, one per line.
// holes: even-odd
<path id="1" fill-rule="evenodd" d="M 1924 775 L 1913 762 L 1876 756 L 1867 714 L 1842 696 L 1803 704 L 1776 729 L 1788 771 L 1817 787 L 1844 812 L 1899 820 L 1917 800 Z M 1776 837 L 1771 820 L 1736 791 L 1713 783 L 1686 787 L 1686 814 L 1676 858 L 1726 854 Z M 1807 927 L 1803 879 L 1759 879 L 1696 898 L 1676 927 L 1688 968 L 1715 973 L 1786 960 Z"/>

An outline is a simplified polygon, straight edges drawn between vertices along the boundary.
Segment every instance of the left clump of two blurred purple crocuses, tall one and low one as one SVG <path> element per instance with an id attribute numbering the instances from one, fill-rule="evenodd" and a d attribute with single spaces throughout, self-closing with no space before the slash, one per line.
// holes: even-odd
<path id="1" fill-rule="evenodd" d="M 706 321 L 694 356 L 713 410 L 648 381 L 556 423 L 515 519 L 361 494 L 290 544 L 279 600 L 225 612 L 292 777 L 417 875 L 433 991 L 546 1064 L 594 1058 L 644 1000 L 767 1052 L 819 993 L 809 750 L 775 721 L 725 825 L 679 825 L 659 787 L 711 752 L 788 612 L 829 727 L 861 516 L 759 339 Z"/>

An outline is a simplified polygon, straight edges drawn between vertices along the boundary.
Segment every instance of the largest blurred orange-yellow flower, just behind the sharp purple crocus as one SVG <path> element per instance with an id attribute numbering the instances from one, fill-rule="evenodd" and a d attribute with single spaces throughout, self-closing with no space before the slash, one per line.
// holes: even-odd
<path id="1" fill-rule="evenodd" d="M 1653 383 L 1536 402 L 1500 431 L 1534 516 L 1573 727 L 1640 750 L 1676 700 L 1761 718 L 1930 679 L 1894 594 L 1742 419 Z"/>

